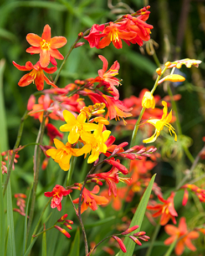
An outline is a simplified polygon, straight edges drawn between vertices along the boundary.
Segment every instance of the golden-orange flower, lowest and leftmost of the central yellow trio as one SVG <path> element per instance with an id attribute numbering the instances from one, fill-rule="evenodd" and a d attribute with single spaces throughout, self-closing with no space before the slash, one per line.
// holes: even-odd
<path id="1" fill-rule="evenodd" d="M 72 149 L 69 142 L 64 145 L 63 142 L 59 141 L 58 139 L 53 139 L 53 142 L 57 149 L 47 150 L 47 155 L 51 156 L 54 161 L 59 164 L 62 170 L 68 171 L 70 168 L 70 158 L 71 156 L 77 156 L 76 152 L 79 149 Z"/>

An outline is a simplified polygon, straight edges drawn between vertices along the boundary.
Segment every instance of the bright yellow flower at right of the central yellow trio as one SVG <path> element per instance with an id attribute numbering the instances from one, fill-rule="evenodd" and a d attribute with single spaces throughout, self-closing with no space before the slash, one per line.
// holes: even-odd
<path id="1" fill-rule="evenodd" d="M 105 153 L 107 151 L 107 146 L 105 142 L 109 138 L 111 131 L 105 130 L 102 132 L 102 124 L 99 124 L 99 129 L 95 130 L 93 134 L 84 133 L 81 139 L 86 143 L 78 152 L 77 155 L 81 156 L 83 154 L 90 153 L 88 157 L 88 163 L 93 163 L 98 159 L 100 152 Z"/>

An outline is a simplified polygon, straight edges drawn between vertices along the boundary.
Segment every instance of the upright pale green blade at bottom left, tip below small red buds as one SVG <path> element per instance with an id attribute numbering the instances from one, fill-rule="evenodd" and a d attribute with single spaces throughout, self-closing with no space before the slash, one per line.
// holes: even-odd
<path id="1" fill-rule="evenodd" d="M 7 187 L 7 222 L 9 226 L 7 255 L 16 256 L 14 223 L 13 223 L 13 207 L 12 207 L 12 190 L 11 190 L 10 180 L 8 182 L 8 187 Z"/>

